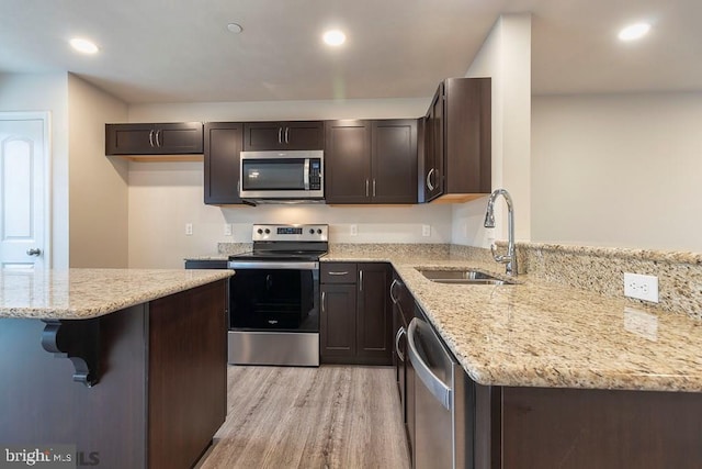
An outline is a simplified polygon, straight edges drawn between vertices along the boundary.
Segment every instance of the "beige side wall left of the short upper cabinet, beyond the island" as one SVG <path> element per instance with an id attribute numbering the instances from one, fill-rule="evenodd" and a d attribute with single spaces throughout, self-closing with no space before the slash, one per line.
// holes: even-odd
<path id="1" fill-rule="evenodd" d="M 127 104 L 68 76 L 70 267 L 127 267 L 127 161 L 105 156 L 105 123 Z"/>

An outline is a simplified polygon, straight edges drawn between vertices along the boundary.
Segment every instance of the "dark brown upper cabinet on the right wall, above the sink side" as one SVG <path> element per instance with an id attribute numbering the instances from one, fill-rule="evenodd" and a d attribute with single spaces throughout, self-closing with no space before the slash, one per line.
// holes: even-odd
<path id="1" fill-rule="evenodd" d="M 490 79 L 444 80 L 423 124 L 420 202 L 465 202 L 490 193 Z"/>

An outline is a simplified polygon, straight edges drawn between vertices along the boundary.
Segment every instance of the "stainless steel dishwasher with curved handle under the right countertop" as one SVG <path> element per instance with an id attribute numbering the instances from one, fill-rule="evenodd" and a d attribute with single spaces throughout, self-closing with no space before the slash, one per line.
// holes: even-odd
<path id="1" fill-rule="evenodd" d="M 474 383 L 420 309 L 409 323 L 407 353 L 415 367 L 414 467 L 473 468 Z"/>

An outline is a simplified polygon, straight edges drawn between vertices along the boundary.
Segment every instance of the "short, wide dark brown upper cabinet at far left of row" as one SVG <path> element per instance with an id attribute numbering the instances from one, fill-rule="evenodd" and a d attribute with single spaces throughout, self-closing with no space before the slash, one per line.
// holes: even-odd
<path id="1" fill-rule="evenodd" d="M 105 155 L 197 155 L 202 122 L 105 124 Z"/>

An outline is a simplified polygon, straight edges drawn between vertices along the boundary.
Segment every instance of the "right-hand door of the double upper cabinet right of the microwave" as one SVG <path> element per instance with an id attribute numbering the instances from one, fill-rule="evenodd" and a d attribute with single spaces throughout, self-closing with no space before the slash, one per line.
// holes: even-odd
<path id="1" fill-rule="evenodd" d="M 373 121 L 373 203 L 417 203 L 417 120 Z"/>

